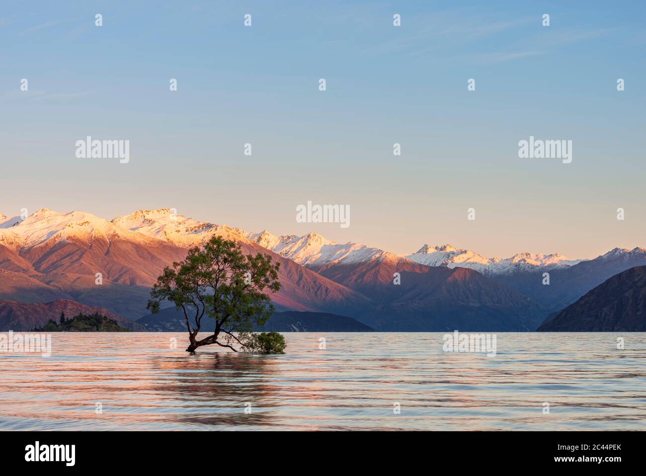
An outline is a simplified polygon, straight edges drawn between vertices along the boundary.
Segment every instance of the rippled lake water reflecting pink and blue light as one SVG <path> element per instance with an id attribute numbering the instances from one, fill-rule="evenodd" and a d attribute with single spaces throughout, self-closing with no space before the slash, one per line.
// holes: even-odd
<path id="1" fill-rule="evenodd" d="M 284 335 L 261 356 L 54 333 L 48 358 L 0 354 L 0 429 L 646 429 L 645 333 L 497 333 L 492 357 L 444 333 Z"/>

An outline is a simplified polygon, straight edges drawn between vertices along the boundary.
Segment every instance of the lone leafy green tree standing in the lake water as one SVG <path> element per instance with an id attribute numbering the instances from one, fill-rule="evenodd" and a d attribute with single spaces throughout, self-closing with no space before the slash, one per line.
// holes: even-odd
<path id="1" fill-rule="evenodd" d="M 164 268 L 152 287 L 148 308 L 155 314 L 160 301 L 167 299 L 183 310 L 191 342 L 187 352 L 211 344 L 236 351 L 237 344 L 245 350 L 282 353 L 282 335 L 252 332 L 254 325 L 264 325 L 273 314 L 271 299 L 263 291 L 280 289 L 279 266 L 269 255 L 243 255 L 235 241 L 214 236 L 202 250 L 191 248 L 183 261 Z M 211 319 L 214 327 L 209 325 Z M 213 334 L 197 340 L 203 328 L 214 329 Z M 267 341 L 275 345 L 260 345 Z"/>

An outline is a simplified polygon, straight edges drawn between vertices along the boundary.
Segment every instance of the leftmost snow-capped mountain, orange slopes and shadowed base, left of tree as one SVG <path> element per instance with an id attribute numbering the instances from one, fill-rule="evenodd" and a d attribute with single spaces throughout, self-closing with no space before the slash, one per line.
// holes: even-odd
<path id="1" fill-rule="evenodd" d="M 90 213 L 43 208 L 0 229 L 0 299 L 70 299 L 138 318 L 160 270 L 184 255 Z"/>

